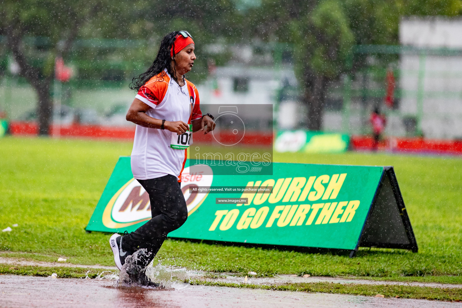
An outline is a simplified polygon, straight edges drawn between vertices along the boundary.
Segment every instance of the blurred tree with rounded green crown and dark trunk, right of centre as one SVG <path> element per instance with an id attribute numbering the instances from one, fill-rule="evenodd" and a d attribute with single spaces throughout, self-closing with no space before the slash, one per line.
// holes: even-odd
<path id="1" fill-rule="evenodd" d="M 308 105 L 308 128 L 322 128 L 325 90 L 330 80 L 344 71 L 354 44 L 341 3 L 325 0 L 313 11 L 292 21 L 296 72 L 304 84 L 304 102 Z"/>

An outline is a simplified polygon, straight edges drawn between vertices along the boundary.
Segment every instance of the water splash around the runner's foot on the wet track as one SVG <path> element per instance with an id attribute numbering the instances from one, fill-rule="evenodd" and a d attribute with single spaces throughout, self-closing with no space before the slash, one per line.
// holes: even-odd
<path id="1" fill-rule="evenodd" d="M 116 287 L 143 287 L 149 289 L 183 289 L 189 284 L 188 272 L 185 268 L 170 268 L 158 263 L 153 266 L 151 263 L 141 268 L 143 260 L 150 257 L 146 249 L 140 249 L 125 259 L 125 264 L 114 283 Z M 149 258 L 150 259 L 150 258 Z M 146 264 L 146 263 L 145 263 Z"/>

